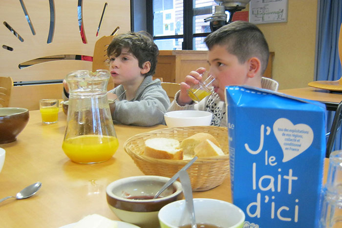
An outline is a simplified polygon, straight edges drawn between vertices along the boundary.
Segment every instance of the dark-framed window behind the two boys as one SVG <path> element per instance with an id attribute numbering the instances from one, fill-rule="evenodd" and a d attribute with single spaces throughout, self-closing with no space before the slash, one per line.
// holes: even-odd
<path id="1" fill-rule="evenodd" d="M 207 50 L 211 32 L 204 19 L 214 13 L 214 0 L 146 0 L 147 31 L 159 50 Z"/>

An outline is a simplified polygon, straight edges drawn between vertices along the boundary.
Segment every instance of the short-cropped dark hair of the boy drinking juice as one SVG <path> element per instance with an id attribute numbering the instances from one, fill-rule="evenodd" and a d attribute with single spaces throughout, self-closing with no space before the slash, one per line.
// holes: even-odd
<path id="1" fill-rule="evenodd" d="M 256 57 L 261 62 L 261 76 L 266 70 L 269 49 L 267 41 L 255 24 L 247 21 L 234 21 L 222 26 L 205 39 L 209 50 L 214 45 L 227 45 L 227 51 L 237 57 L 240 63 Z"/>

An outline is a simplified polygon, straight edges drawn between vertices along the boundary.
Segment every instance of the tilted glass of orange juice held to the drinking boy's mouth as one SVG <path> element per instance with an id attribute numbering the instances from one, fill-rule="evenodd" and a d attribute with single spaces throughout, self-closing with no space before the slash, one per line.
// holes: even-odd
<path id="1" fill-rule="evenodd" d="M 188 94 L 192 101 L 198 103 L 206 96 L 211 95 L 214 92 L 214 81 L 215 78 L 212 75 L 208 75 L 208 71 L 205 71 L 202 74 L 202 81 L 199 81 L 198 84 L 194 84 L 188 89 Z"/>

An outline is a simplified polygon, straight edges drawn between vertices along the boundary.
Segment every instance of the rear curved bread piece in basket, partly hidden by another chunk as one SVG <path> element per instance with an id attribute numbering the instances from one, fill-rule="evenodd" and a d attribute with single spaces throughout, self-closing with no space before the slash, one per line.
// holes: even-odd
<path id="1" fill-rule="evenodd" d="M 180 148 L 183 149 L 183 155 L 186 159 L 191 159 L 194 156 L 194 148 L 200 144 L 201 142 L 204 142 L 205 140 L 209 139 L 211 142 L 213 142 L 215 145 L 220 146 L 217 142 L 217 140 L 209 133 L 196 133 L 182 141 L 180 144 Z"/>

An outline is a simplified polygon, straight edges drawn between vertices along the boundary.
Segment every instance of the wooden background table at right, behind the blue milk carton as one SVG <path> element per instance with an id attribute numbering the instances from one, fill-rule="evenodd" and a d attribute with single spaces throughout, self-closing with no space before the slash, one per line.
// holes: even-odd
<path id="1" fill-rule="evenodd" d="M 337 106 L 342 101 L 342 93 L 330 92 L 325 89 L 318 89 L 314 87 L 282 89 L 280 93 L 304 98 L 313 101 L 319 101 L 326 105 L 327 110 L 336 111 Z"/>

